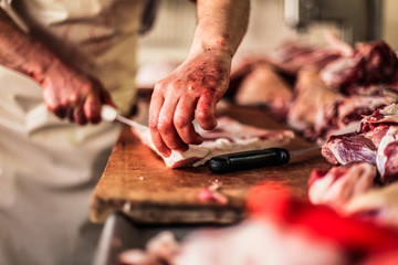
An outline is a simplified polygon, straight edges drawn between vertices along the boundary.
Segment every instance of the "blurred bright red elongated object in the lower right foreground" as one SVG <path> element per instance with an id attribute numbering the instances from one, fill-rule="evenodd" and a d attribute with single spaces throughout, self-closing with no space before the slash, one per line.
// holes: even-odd
<path id="1" fill-rule="evenodd" d="M 261 184 L 248 197 L 250 218 L 273 220 L 305 230 L 341 246 L 359 264 L 398 262 L 398 232 L 355 218 L 342 218 L 332 209 L 313 205 L 291 195 L 285 187 Z"/>

